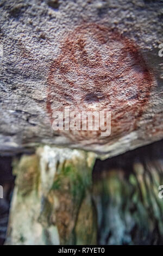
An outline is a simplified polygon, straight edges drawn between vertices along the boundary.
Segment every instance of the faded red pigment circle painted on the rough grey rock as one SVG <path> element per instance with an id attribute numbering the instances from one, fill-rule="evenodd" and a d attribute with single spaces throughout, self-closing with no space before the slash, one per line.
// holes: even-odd
<path id="1" fill-rule="evenodd" d="M 60 56 L 49 68 L 47 112 L 111 111 L 111 135 L 101 131 L 58 131 L 74 141 L 106 143 L 137 129 L 154 84 L 136 44 L 114 29 L 85 23 L 61 40 Z M 56 105 L 56 102 L 59 102 Z"/>

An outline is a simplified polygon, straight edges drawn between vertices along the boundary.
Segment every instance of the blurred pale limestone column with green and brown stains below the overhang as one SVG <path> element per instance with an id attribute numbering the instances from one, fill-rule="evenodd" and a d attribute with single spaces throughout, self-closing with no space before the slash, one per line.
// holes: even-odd
<path id="1" fill-rule="evenodd" d="M 23 155 L 15 161 L 16 181 L 6 243 L 96 244 L 91 198 L 95 157 L 82 150 L 45 146 L 36 154 Z"/>

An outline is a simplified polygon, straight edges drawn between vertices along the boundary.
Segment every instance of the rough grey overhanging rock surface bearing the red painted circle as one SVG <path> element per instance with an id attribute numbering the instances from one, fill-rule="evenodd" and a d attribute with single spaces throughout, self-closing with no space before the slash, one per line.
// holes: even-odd
<path id="1" fill-rule="evenodd" d="M 28 151 L 40 144 L 58 144 L 110 157 L 163 137 L 162 57 L 158 56 L 158 46 L 163 41 L 162 1 L 9 0 L 1 1 L 0 13 L 1 154 Z M 95 33 L 90 24 L 96 28 Z M 79 32 L 81 26 L 86 26 L 83 32 Z M 111 33 L 109 37 L 107 33 Z M 79 42 L 81 35 L 83 42 Z M 100 39 L 95 39 L 95 35 Z M 82 71 L 81 65 L 72 63 L 71 47 L 77 63 L 81 60 L 78 64 Z M 95 54 L 98 51 L 100 54 Z M 124 54 L 126 51 L 128 55 Z M 101 68 L 100 56 L 103 60 L 109 56 L 108 62 L 112 61 L 115 69 L 109 63 L 109 67 Z M 70 62 L 68 69 L 73 75 L 68 73 L 64 61 Z M 85 74 L 94 77 L 87 78 Z M 96 82 L 96 78 L 100 91 L 98 84 L 94 87 L 90 82 Z M 56 80 L 57 89 L 52 88 L 48 98 L 48 88 L 54 87 Z M 115 83 L 111 85 L 112 81 Z M 70 82 L 72 90 L 68 90 Z M 129 86 L 125 87 L 125 83 Z M 79 109 L 100 110 L 109 101 L 107 95 L 113 118 L 110 137 L 100 141 L 96 134 L 92 137 L 86 133 L 81 140 L 80 134 L 70 136 L 53 131 L 49 101 L 57 108 L 69 103 L 76 106 L 79 102 Z"/>

